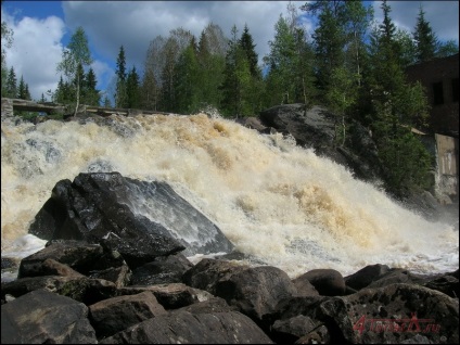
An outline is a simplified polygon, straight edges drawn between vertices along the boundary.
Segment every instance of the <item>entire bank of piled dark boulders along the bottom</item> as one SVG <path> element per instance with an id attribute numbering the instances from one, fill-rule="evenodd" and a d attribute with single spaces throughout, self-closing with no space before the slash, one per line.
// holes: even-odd
<path id="1" fill-rule="evenodd" d="M 1 286 L 1 342 L 458 344 L 459 271 L 372 265 L 290 279 L 271 266 L 182 254 L 131 264 L 52 240 Z M 139 265 L 139 266 L 137 266 Z"/>

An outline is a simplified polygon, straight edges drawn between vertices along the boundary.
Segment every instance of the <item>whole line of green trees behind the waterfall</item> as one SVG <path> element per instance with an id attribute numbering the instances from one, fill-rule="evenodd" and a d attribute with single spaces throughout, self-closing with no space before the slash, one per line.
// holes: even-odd
<path id="1" fill-rule="evenodd" d="M 304 103 L 306 110 L 323 104 L 336 118 L 336 145 L 347 144 L 353 122 L 372 132 L 388 167 L 389 190 L 400 194 L 426 188 L 432 157 L 410 129 L 426 129 L 430 105 L 422 86 L 406 80 L 405 68 L 458 53 L 458 46 L 437 39 L 422 4 L 411 33 L 396 28 L 386 0 L 380 9 L 383 21 L 378 23 L 363 1 L 317 0 L 299 9 L 289 3 L 261 64 L 247 25 L 242 31 L 233 25 L 229 38 L 215 23 L 200 37 L 182 27 L 156 36 L 142 74 L 136 66 L 127 68 L 120 46 L 111 90 L 114 104 L 95 89 L 88 40 L 78 27 L 56 68 L 64 76 L 50 94 L 75 104 L 75 112 L 79 103 L 103 103 L 179 114 L 216 108 L 222 116 L 241 117 L 278 104 Z M 312 33 L 302 24 L 304 14 L 316 18 Z"/>

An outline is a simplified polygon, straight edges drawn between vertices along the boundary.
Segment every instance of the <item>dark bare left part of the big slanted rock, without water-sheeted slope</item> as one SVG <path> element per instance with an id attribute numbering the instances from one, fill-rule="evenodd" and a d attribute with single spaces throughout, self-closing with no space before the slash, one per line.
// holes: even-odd
<path id="1" fill-rule="evenodd" d="M 130 266 L 184 248 L 164 227 L 137 216 L 128 205 L 128 190 L 119 174 L 79 174 L 73 183 L 56 183 L 29 232 L 46 240 L 99 243 L 120 253 Z"/>

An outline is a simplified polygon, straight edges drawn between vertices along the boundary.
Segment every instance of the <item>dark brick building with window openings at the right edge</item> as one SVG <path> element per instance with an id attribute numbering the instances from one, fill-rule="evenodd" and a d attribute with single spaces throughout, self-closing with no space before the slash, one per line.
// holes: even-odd
<path id="1" fill-rule="evenodd" d="M 410 81 L 420 80 L 425 88 L 430 131 L 458 138 L 459 128 L 459 54 L 409 66 Z"/>

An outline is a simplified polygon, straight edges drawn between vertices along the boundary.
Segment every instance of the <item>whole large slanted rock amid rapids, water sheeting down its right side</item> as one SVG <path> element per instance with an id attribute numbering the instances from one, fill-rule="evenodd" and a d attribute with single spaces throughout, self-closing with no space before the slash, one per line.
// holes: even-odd
<path id="1" fill-rule="evenodd" d="M 132 267 L 186 247 L 187 255 L 232 250 L 221 231 L 168 184 L 118 173 L 79 174 L 74 182 L 58 182 L 29 233 L 99 243 Z"/>

